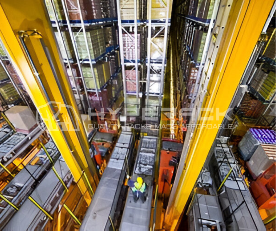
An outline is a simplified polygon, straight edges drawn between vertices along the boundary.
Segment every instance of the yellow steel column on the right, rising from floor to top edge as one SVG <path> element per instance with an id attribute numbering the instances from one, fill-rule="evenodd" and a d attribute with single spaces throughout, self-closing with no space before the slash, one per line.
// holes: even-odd
<path id="1" fill-rule="evenodd" d="M 273 0 L 236 0 L 232 6 L 226 6 L 231 7 L 230 14 L 224 26 L 222 43 L 213 64 L 208 92 L 202 105 L 202 108 L 213 108 L 214 111 L 202 112 L 201 118 L 204 119 L 198 121 L 200 127 L 193 134 L 173 203 L 166 211 L 165 224 L 171 230 L 175 230 L 179 222 L 219 125 L 222 123 L 223 116 L 216 118 L 216 109 L 225 112 L 229 107 L 273 2 Z M 208 128 L 208 125 L 212 128 Z"/>

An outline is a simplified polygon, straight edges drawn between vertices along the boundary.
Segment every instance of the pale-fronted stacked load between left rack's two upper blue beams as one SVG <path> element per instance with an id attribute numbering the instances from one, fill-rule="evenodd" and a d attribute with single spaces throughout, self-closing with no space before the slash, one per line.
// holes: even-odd
<path id="1" fill-rule="evenodd" d="M 74 35 L 76 36 L 79 58 L 88 59 L 88 53 L 83 32 L 74 32 Z M 102 29 L 96 29 L 86 32 L 86 36 L 92 60 L 105 53 L 105 38 Z"/>

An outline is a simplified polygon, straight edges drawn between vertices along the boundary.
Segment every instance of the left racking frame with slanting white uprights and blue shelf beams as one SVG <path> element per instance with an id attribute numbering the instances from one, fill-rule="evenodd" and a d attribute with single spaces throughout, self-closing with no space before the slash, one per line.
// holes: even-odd
<path id="1" fill-rule="evenodd" d="M 94 67 L 95 67 L 94 64 L 96 64 L 97 61 L 99 61 L 99 60 L 107 59 L 107 57 L 109 57 L 110 55 L 115 54 L 115 51 L 118 50 L 119 46 L 117 45 L 115 30 L 112 29 L 113 46 L 108 47 L 108 49 L 106 49 L 105 53 L 92 59 L 91 55 L 90 55 L 90 50 L 92 48 L 89 47 L 89 45 L 88 45 L 86 32 L 91 29 L 95 29 L 95 28 L 99 28 L 99 27 L 103 27 L 103 26 L 114 28 L 117 24 L 117 18 L 101 18 L 101 19 L 84 20 L 82 12 L 81 12 L 80 1 L 77 1 L 80 20 L 70 20 L 69 14 L 68 14 L 67 2 L 65 0 L 61 0 L 61 4 L 62 4 L 61 10 L 64 13 L 65 20 L 58 20 L 57 6 L 54 4 L 53 0 L 50 0 L 50 3 L 51 3 L 51 8 L 53 10 L 52 12 L 54 12 L 54 15 L 53 15 L 54 21 L 51 21 L 51 23 L 52 23 L 53 28 L 56 28 L 58 30 L 58 36 L 60 38 L 60 41 L 62 41 L 61 46 L 66 51 L 66 59 L 63 61 L 64 61 L 65 65 L 67 65 L 69 67 L 70 72 L 73 75 L 74 84 L 76 86 L 76 87 L 72 87 L 72 89 L 73 89 L 73 91 L 76 91 L 76 95 L 78 96 L 78 98 L 80 98 L 82 112 L 87 113 L 87 108 L 92 107 L 90 99 L 89 99 L 89 92 L 95 92 L 97 99 L 100 100 L 101 96 L 99 95 L 99 93 L 103 89 L 105 89 L 106 86 L 108 84 L 110 84 L 113 79 L 116 79 L 118 77 L 118 74 L 120 73 L 120 68 L 116 64 L 117 67 L 116 67 L 115 74 L 111 75 L 109 80 L 102 87 L 97 86 L 97 80 L 96 80 L 96 75 L 95 75 L 95 71 L 94 71 Z M 48 11 L 49 11 L 49 9 L 48 9 Z M 74 74 L 72 72 L 72 63 L 74 63 L 74 61 L 69 59 L 68 51 L 66 50 L 66 46 L 65 46 L 65 40 L 64 40 L 65 38 L 62 34 L 62 31 L 67 31 L 67 30 L 70 34 L 70 39 L 71 39 L 71 42 L 73 45 L 73 50 L 74 50 L 74 54 L 76 57 L 76 63 L 78 65 L 78 70 L 80 72 L 80 77 L 74 76 Z M 80 32 L 83 33 L 85 47 L 86 47 L 87 54 L 88 54 L 88 59 L 85 59 L 85 60 L 80 59 L 80 55 L 79 55 L 79 52 L 77 49 L 76 36 L 73 34 L 74 31 L 76 31 L 78 33 L 80 33 Z M 90 89 L 86 86 L 85 77 L 84 77 L 83 70 L 82 70 L 82 64 L 89 64 L 91 74 L 92 74 L 92 79 L 95 84 L 95 89 Z M 81 81 L 82 81 L 85 100 L 82 100 L 82 98 L 81 98 L 82 90 L 78 89 L 77 79 L 81 79 Z M 116 92 L 116 95 L 114 98 L 116 98 L 119 94 L 120 94 L 120 90 Z M 101 101 L 102 108 L 105 108 L 108 106 L 108 105 L 104 105 L 102 100 L 100 100 L 100 101 Z M 110 102 L 112 102 L 112 100 Z M 110 104 L 112 104 L 112 103 L 110 103 Z M 109 105 L 109 106 L 111 106 L 111 105 Z"/>

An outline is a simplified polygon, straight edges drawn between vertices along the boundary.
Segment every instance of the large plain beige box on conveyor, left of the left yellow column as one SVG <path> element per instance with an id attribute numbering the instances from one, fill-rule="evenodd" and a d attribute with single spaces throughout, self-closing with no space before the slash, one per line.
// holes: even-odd
<path id="1" fill-rule="evenodd" d="M 29 132 L 37 125 L 36 118 L 28 106 L 13 106 L 5 114 L 17 130 Z"/>

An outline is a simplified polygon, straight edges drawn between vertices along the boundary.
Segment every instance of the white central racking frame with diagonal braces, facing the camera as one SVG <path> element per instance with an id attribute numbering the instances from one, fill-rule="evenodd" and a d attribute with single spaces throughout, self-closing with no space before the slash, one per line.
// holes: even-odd
<path id="1" fill-rule="evenodd" d="M 126 1 L 126 3 L 129 1 Z M 164 84 L 164 71 L 166 67 L 166 48 L 168 42 L 168 33 L 170 26 L 170 16 L 171 16 L 171 2 L 170 1 L 157 1 L 159 4 L 163 5 L 164 10 L 166 11 L 166 17 L 163 19 L 153 19 L 152 18 L 152 0 L 151 1 L 141 1 L 139 2 L 139 7 L 137 7 L 137 0 L 133 0 L 133 8 L 132 10 L 134 18 L 130 20 L 122 20 L 121 15 L 121 1 L 117 0 L 117 16 L 118 16 L 118 29 L 119 29 L 119 42 L 120 42 L 120 54 L 121 54 L 121 64 L 122 64 L 122 76 L 124 83 L 124 114 L 125 121 L 127 120 L 127 105 L 133 104 L 128 102 L 128 98 L 133 95 L 135 96 L 136 106 L 145 105 L 146 108 L 150 108 L 150 97 L 156 98 L 158 103 L 156 103 L 156 108 L 161 107 L 162 97 L 163 97 L 163 84 Z M 141 16 L 139 19 L 137 17 L 137 9 L 138 13 Z M 147 9 L 147 16 L 142 12 L 144 9 Z M 132 29 L 133 28 L 133 29 Z M 145 30 L 143 28 L 146 28 Z M 155 31 L 155 28 L 158 28 Z M 138 29 L 140 33 L 140 58 L 138 57 Z M 129 31 L 134 31 L 134 36 L 130 34 Z M 152 33 L 153 31 L 153 33 Z M 135 52 L 135 60 L 129 60 L 124 57 L 124 43 L 123 43 L 123 35 L 129 37 L 134 43 L 134 52 Z M 157 36 L 163 35 L 163 45 L 161 50 L 161 61 L 154 60 L 151 57 L 151 47 L 155 47 L 156 50 L 160 49 L 154 43 L 153 39 Z M 147 41 L 147 45 L 143 47 L 143 41 Z M 126 67 L 130 67 L 130 71 L 135 71 L 135 80 L 127 80 L 125 69 Z M 140 74 L 138 73 L 140 69 Z M 159 69 L 156 72 L 156 69 Z M 141 73 L 142 72 L 142 73 Z M 151 79 L 151 74 L 159 75 L 157 80 Z M 127 92 L 127 82 L 134 82 L 136 84 L 136 92 L 131 93 Z M 150 87 L 156 84 L 157 91 L 151 92 Z M 140 102 L 141 101 L 141 102 Z"/>

